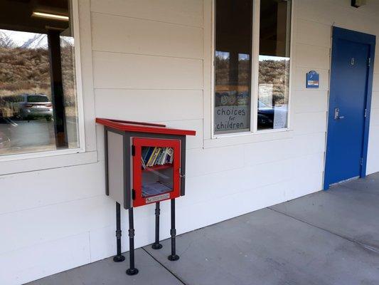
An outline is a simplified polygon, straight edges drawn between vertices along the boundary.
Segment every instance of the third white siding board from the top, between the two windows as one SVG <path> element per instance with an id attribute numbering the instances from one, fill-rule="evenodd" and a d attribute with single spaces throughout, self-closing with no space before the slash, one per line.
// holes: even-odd
<path id="1" fill-rule="evenodd" d="M 93 68 L 95 89 L 203 88 L 203 64 L 197 59 L 94 51 Z"/>

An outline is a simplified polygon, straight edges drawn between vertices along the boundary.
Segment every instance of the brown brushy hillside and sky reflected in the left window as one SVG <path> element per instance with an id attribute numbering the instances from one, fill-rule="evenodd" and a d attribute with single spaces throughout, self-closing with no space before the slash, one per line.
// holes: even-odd
<path id="1" fill-rule="evenodd" d="M 75 105 L 73 38 L 60 37 L 65 105 Z M 22 93 L 51 100 L 48 37 L 41 33 L 0 30 L 0 98 Z"/>

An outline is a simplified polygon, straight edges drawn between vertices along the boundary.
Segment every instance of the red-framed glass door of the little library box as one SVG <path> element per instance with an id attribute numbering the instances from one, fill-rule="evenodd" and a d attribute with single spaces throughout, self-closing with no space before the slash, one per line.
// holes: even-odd
<path id="1" fill-rule="evenodd" d="M 180 196 L 181 141 L 133 138 L 133 206 Z"/>

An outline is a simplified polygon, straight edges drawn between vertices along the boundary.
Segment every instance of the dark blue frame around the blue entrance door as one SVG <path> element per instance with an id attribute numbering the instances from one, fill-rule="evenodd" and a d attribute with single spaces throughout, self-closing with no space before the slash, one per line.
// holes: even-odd
<path id="1" fill-rule="evenodd" d="M 353 41 L 356 43 L 364 43 L 370 46 L 370 66 L 368 67 L 368 78 L 366 82 L 366 93 L 365 93 L 365 123 L 363 126 L 363 150 L 362 157 L 363 162 L 361 165 L 361 174 L 360 177 L 365 177 L 366 175 L 366 166 L 367 166 L 367 150 L 368 150 L 368 132 L 370 128 L 370 113 L 371 113 L 371 96 L 373 93 L 373 74 L 374 74 L 374 63 L 375 63 L 375 43 L 376 37 L 368 33 L 361 33 L 358 31 L 347 30 L 346 28 L 338 28 L 333 26 L 332 29 L 332 47 L 331 47 L 331 63 L 330 63 L 330 76 L 329 76 L 329 96 L 328 96 L 328 115 L 326 117 L 326 152 L 324 160 L 324 190 L 329 189 L 329 182 L 326 179 L 326 161 L 328 158 L 328 137 L 329 137 L 329 113 L 331 112 L 330 100 L 331 100 L 331 80 L 332 80 L 332 71 L 333 71 L 333 58 L 336 58 L 336 39 L 344 39 L 347 41 Z"/>

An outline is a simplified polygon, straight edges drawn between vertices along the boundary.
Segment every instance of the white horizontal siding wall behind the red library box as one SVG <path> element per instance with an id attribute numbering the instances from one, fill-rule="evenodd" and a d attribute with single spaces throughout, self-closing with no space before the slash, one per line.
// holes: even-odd
<path id="1" fill-rule="evenodd" d="M 86 15 L 91 21 L 90 31 L 81 31 L 82 38 L 92 37 L 95 110 L 87 111 L 197 131 L 188 138 L 179 234 L 321 190 L 331 25 L 379 36 L 378 5 L 368 1 L 370 6 L 353 9 L 350 0 L 294 0 L 292 131 L 215 141 L 208 108 L 210 0 L 80 2 L 81 21 Z M 304 88 L 309 70 L 321 74 L 318 90 Z M 97 126 L 97 163 L 0 176 L 0 284 L 21 284 L 114 254 L 102 135 Z M 378 145 L 379 64 L 368 173 L 379 171 Z M 168 202 L 161 213 L 167 238 Z M 126 221 L 123 212 L 125 251 Z M 135 225 L 137 247 L 154 241 L 154 205 L 136 209 Z"/>

